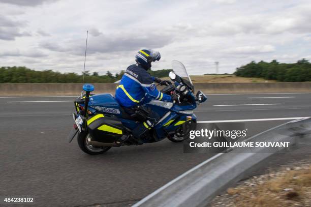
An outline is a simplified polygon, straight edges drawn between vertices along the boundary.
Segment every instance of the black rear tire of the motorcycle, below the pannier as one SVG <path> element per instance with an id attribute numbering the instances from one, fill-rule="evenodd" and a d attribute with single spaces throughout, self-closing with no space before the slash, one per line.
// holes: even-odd
<path id="1" fill-rule="evenodd" d="M 99 154 L 103 154 L 105 152 L 107 152 L 111 146 L 103 146 L 103 147 L 94 147 L 91 145 L 87 144 L 87 140 L 86 138 L 89 136 L 89 134 L 87 132 L 79 132 L 78 133 L 78 145 L 80 147 L 80 149 L 89 155 L 99 155 Z"/>

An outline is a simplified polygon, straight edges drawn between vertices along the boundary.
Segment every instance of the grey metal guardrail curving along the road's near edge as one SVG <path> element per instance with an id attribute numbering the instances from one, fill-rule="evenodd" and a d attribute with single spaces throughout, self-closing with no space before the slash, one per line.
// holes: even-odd
<path id="1" fill-rule="evenodd" d="M 299 142 L 310 142 L 310 133 L 309 118 L 279 125 L 247 141 L 289 141 L 289 146 L 299 146 Z M 262 148 L 255 148 L 252 153 L 243 153 L 243 149 L 235 149 L 229 153 L 216 154 L 133 206 L 205 206 L 214 196 L 254 170 L 258 163 L 283 150 L 284 147 L 277 147 L 267 153 Z"/>

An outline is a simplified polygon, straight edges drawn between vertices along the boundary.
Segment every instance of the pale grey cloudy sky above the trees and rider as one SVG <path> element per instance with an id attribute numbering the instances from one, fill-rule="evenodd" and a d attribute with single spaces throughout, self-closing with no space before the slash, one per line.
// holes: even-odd
<path id="1" fill-rule="evenodd" d="M 250 61 L 311 59 L 311 1 L 0 0 L 0 65 L 81 73 L 124 70 L 141 48 L 190 74 Z"/>

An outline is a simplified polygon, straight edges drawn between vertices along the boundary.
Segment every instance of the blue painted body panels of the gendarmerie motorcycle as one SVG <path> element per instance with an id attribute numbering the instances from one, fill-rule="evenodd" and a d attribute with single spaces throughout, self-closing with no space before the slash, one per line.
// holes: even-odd
<path id="1" fill-rule="evenodd" d="M 189 95 L 190 98 L 195 100 L 192 93 Z M 155 130 L 154 139 L 159 141 L 166 138 L 167 133 L 173 133 L 175 130 L 181 126 L 182 121 L 188 121 L 192 119 L 196 121 L 196 115 L 193 110 L 197 107 L 195 101 L 191 102 L 193 104 L 173 104 L 171 102 L 159 101 L 154 104 L 154 100 L 150 97 L 145 97 L 141 102 L 142 105 L 149 107 L 155 113 L 158 113 L 162 119 L 153 127 Z M 163 106 L 162 106 L 163 105 Z M 125 119 L 124 114 L 122 114 L 122 109 L 119 103 L 115 100 L 114 96 L 111 94 L 98 94 L 93 95 L 89 99 L 88 110 L 92 114 L 104 113 L 107 115 L 115 115 L 121 121 L 122 125 L 133 130 L 139 122 Z M 167 124 L 170 122 L 169 124 Z"/>

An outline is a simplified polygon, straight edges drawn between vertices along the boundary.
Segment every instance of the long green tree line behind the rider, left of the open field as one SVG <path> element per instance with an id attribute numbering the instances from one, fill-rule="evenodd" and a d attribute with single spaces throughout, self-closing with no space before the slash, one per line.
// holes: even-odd
<path id="1" fill-rule="evenodd" d="M 155 77 L 166 77 L 171 70 L 151 71 Z M 92 74 L 89 71 L 84 73 L 84 82 L 111 83 L 121 79 L 125 71 L 113 75 L 107 71 L 105 75 L 98 72 Z M 77 73 L 60 73 L 52 70 L 36 71 L 26 67 L 1 67 L 0 83 L 79 83 L 82 82 L 82 75 Z"/>

